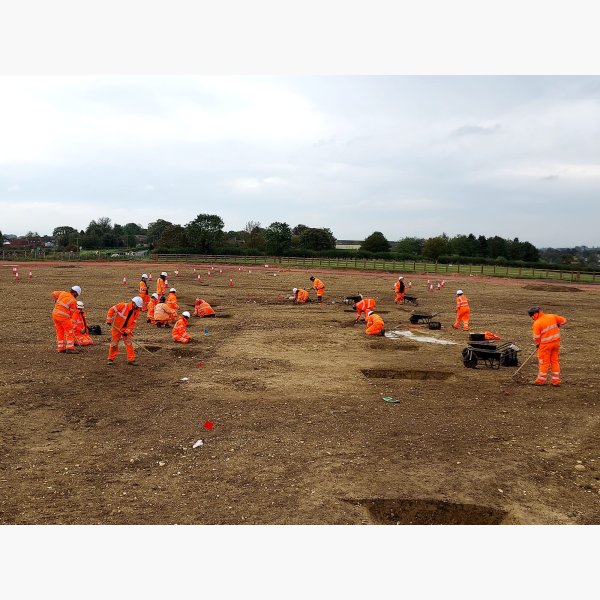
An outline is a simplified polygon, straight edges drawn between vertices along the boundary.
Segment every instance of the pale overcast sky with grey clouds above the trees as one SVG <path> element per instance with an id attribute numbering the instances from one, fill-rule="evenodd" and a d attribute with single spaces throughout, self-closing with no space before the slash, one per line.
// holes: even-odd
<path id="1" fill-rule="evenodd" d="M 2 76 L 0 230 L 218 214 L 600 245 L 600 77 Z"/>

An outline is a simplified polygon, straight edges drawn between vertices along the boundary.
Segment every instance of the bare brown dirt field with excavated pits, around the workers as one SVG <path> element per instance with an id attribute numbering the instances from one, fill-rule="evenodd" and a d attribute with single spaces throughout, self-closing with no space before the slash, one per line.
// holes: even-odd
<path id="1" fill-rule="evenodd" d="M 209 277 L 205 265 L 24 264 L 20 281 L 11 266 L 0 270 L 3 524 L 600 524 L 598 287 L 462 276 L 429 292 L 437 277 L 406 274 L 419 306 L 396 306 L 397 273 L 315 271 L 325 302 L 293 305 L 311 273 L 273 265 Z M 107 367 L 107 309 L 137 295 L 144 271 L 154 291 L 161 270 L 182 310 L 201 295 L 217 318 L 192 317 L 183 346 L 144 315 L 140 366 L 121 345 Z M 103 332 L 58 354 L 50 293 L 76 284 Z M 566 316 L 562 386 L 533 385 L 535 357 L 516 377 L 465 368 L 457 288 L 471 332 L 515 342 L 519 366 L 533 349 L 528 307 Z M 341 300 L 357 292 L 377 300 L 388 334 L 417 337 L 352 325 Z M 439 312 L 442 328 L 409 327 L 415 309 Z"/>

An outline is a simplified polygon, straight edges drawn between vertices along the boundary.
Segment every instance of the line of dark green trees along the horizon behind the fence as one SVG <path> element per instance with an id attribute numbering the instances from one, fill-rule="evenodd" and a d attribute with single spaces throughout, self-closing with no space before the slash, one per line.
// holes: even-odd
<path id="1" fill-rule="evenodd" d="M 599 253 L 594 249 L 552 249 L 540 251 L 527 241 L 500 236 L 486 237 L 445 233 L 430 238 L 404 237 L 390 242 L 375 231 L 362 240 L 355 250 L 336 249 L 336 238 L 328 228 L 273 222 L 263 227 L 248 221 L 241 231 L 224 231 L 218 215 L 199 214 L 180 225 L 164 219 L 148 224 L 113 224 L 107 217 L 92 220 L 85 230 L 70 226 L 57 227 L 53 239 L 58 250 L 103 250 L 149 248 L 160 253 L 246 254 L 268 256 L 349 256 L 388 258 L 393 260 L 432 260 L 438 262 L 534 264 L 550 263 L 570 266 L 598 266 Z M 585 257 L 584 257 L 585 253 Z"/>

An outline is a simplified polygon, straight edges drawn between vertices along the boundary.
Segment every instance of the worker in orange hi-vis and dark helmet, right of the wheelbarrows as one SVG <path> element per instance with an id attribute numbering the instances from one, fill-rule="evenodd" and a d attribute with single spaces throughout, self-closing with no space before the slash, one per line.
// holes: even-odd
<path id="1" fill-rule="evenodd" d="M 545 385 L 548 379 L 548 368 L 552 370 L 550 383 L 560 385 L 560 326 L 567 322 L 560 315 L 546 314 L 539 306 L 533 306 L 528 311 L 533 319 L 533 343 L 538 349 L 538 374 L 536 385 Z"/>

